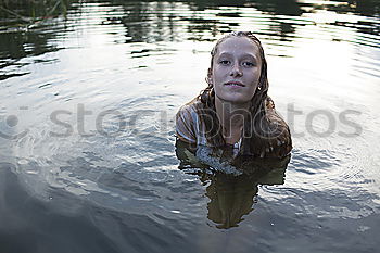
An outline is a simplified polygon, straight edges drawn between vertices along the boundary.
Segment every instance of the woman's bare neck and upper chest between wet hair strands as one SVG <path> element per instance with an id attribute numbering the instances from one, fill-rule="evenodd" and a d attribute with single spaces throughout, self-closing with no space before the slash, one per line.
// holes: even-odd
<path id="1" fill-rule="evenodd" d="M 215 97 L 216 115 L 227 143 L 239 141 L 250 103 L 231 103 Z"/>

